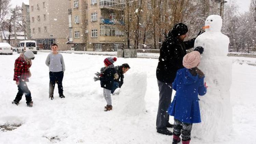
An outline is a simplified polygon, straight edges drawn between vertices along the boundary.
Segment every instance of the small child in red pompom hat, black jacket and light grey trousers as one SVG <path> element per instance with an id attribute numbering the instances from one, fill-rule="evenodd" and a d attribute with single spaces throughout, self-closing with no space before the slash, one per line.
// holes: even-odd
<path id="1" fill-rule="evenodd" d="M 107 105 L 104 107 L 104 111 L 112 110 L 112 100 L 111 100 L 111 90 L 114 84 L 114 75 L 116 70 L 114 68 L 114 62 L 116 57 L 108 57 L 104 60 L 104 68 L 100 69 L 100 85 L 103 88 L 103 96 L 107 102 Z M 95 77 L 96 78 L 96 77 Z M 97 79 L 97 78 L 96 78 Z M 97 80 L 96 80 L 97 81 Z"/>

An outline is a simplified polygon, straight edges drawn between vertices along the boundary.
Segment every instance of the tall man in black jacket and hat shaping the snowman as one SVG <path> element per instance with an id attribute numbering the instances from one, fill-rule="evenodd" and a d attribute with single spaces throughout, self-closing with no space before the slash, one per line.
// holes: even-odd
<path id="1" fill-rule="evenodd" d="M 173 127 L 169 123 L 167 109 L 172 98 L 172 83 L 175 79 L 177 70 L 183 68 L 182 60 L 186 55 L 186 50 L 193 48 L 195 39 L 185 41 L 188 28 L 183 23 L 174 25 L 169 31 L 161 48 L 156 69 L 156 77 L 159 88 L 159 105 L 156 119 L 156 129 L 158 133 L 172 135 L 167 127 Z M 200 33 L 199 33 L 200 34 Z M 195 48 L 195 51 L 203 52 L 202 47 Z"/>

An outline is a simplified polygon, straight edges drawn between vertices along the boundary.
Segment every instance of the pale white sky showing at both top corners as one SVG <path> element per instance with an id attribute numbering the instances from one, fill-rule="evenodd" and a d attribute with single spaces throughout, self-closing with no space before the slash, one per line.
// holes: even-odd
<path id="1" fill-rule="evenodd" d="M 226 0 L 226 1 L 230 1 L 230 0 Z M 239 7 L 240 7 L 239 10 L 241 13 L 249 11 L 251 0 L 235 0 L 235 1 L 237 2 L 237 4 L 239 4 Z M 21 6 L 22 2 L 29 3 L 29 0 L 11 0 L 12 6 L 15 6 L 15 5 Z"/>

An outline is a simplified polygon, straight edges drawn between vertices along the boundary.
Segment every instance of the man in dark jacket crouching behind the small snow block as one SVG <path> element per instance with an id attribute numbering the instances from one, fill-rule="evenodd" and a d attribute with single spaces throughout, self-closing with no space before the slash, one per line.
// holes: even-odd
<path id="1" fill-rule="evenodd" d="M 114 91 L 118 87 L 121 88 L 121 86 L 124 84 L 124 74 L 130 69 L 130 66 L 129 64 L 124 63 L 121 66 L 116 66 L 115 69 L 118 77 L 116 77 L 114 80 L 114 85 L 112 87 L 111 93 L 114 93 Z"/>

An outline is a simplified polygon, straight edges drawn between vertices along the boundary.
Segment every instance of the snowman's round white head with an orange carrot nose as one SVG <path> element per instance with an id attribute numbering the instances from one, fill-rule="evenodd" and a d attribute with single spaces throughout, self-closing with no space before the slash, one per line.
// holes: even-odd
<path id="1" fill-rule="evenodd" d="M 221 32 L 222 18 L 219 15 L 210 15 L 205 20 L 205 32 Z"/>

